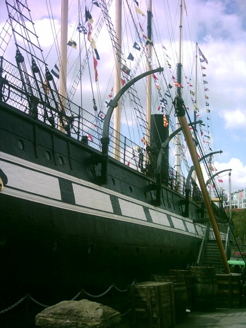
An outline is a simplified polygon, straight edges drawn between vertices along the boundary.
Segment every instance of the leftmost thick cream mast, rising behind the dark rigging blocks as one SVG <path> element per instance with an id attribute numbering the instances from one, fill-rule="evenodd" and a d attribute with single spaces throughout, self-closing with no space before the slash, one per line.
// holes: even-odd
<path id="1" fill-rule="evenodd" d="M 67 94 L 67 41 L 68 41 L 68 0 L 61 1 L 61 27 L 60 27 L 60 67 L 59 67 L 59 94 L 62 105 L 66 108 Z M 59 123 L 59 130 L 62 125 Z"/>

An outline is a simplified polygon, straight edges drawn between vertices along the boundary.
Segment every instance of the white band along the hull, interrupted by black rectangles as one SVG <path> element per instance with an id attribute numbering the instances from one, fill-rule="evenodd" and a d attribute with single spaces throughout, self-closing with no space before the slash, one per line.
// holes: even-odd
<path id="1" fill-rule="evenodd" d="M 95 186 L 93 183 L 74 178 L 67 174 L 35 165 L 32 162 L 28 162 L 15 156 L 2 152 L 0 152 L 0 156 L 2 156 L 3 159 L 12 161 L 12 163 L 5 161 L 0 162 L 0 168 L 8 176 L 8 185 L 5 186 L 1 194 L 88 215 L 142 224 L 144 226 L 187 234 L 190 236 L 198 236 L 200 238 L 203 236 L 204 228 L 196 224 L 198 230 L 197 235 L 192 220 L 188 218 L 183 218 L 179 215 L 173 216 L 173 213 L 159 208 L 157 209 L 154 206 L 146 204 L 145 202 L 121 195 L 120 193 L 100 186 Z M 25 165 L 27 168 L 19 167 L 19 165 Z M 40 172 L 30 170 L 29 168 Z M 47 175 L 45 173 L 55 176 Z M 61 195 L 57 177 L 75 182 L 72 183 L 72 186 L 76 205 L 60 201 Z M 110 195 L 114 195 L 118 198 L 122 215 L 113 213 Z M 147 221 L 144 206 L 148 207 L 153 223 Z M 171 216 L 174 228 L 171 227 L 167 214 Z M 186 221 L 189 232 L 187 232 L 183 221 Z"/>

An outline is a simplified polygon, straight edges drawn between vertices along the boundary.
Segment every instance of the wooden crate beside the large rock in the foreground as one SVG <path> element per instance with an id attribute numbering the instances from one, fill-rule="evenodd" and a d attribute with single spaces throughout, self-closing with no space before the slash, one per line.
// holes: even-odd
<path id="1" fill-rule="evenodd" d="M 175 325 L 172 282 L 147 281 L 128 286 L 131 327 L 169 328 Z"/>

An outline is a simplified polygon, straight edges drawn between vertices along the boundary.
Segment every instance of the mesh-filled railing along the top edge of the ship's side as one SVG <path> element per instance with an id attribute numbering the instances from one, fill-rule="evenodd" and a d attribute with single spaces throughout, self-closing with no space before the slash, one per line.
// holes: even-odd
<path id="1" fill-rule="evenodd" d="M 104 115 L 101 115 L 101 112 L 94 115 L 69 99 L 61 99 L 54 82 L 40 80 L 37 73 L 31 75 L 27 70 L 22 71 L 7 60 L 3 60 L 2 63 L 0 100 L 101 151 L 100 139 L 104 123 Z M 109 136 L 109 156 L 155 179 L 158 157 L 155 147 L 149 147 L 147 150 L 140 147 L 127 137 L 116 133 L 112 125 Z M 186 178 L 177 175 L 165 158 L 161 182 L 185 196 Z M 192 179 L 190 189 L 191 198 L 200 202 L 201 192 Z"/>

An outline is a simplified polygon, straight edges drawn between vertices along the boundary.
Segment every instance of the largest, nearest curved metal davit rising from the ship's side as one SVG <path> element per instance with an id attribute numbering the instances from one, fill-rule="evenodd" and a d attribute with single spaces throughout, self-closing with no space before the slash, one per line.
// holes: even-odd
<path id="1" fill-rule="evenodd" d="M 131 81 L 129 81 L 124 87 L 122 87 L 122 89 L 119 90 L 119 92 L 116 94 L 114 99 L 111 99 L 109 102 L 109 109 L 108 109 L 107 114 L 104 119 L 103 137 L 101 138 L 102 160 L 101 160 L 101 176 L 99 179 L 101 185 L 107 185 L 107 182 L 108 182 L 107 181 L 108 180 L 108 150 L 109 150 L 109 141 L 110 141 L 109 125 L 110 125 L 110 120 L 111 120 L 113 111 L 114 111 L 115 107 L 117 107 L 118 100 L 120 99 L 122 94 L 124 94 L 124 92 L 127 91 L 127 89 L 129 89 L 134 83 L 136 83 L 136 81 L 140 80 L 141 78 L 143 78 L 147 75 L 157 73 L 157 72 L 163 72 L 163 68 L 160 67 L 155 70 L 151 70 L 151 71 L 148 71 L 148 72 L 145 72 L 145 73 L 142 73 L 142 74 L 136 76 Z"/>

